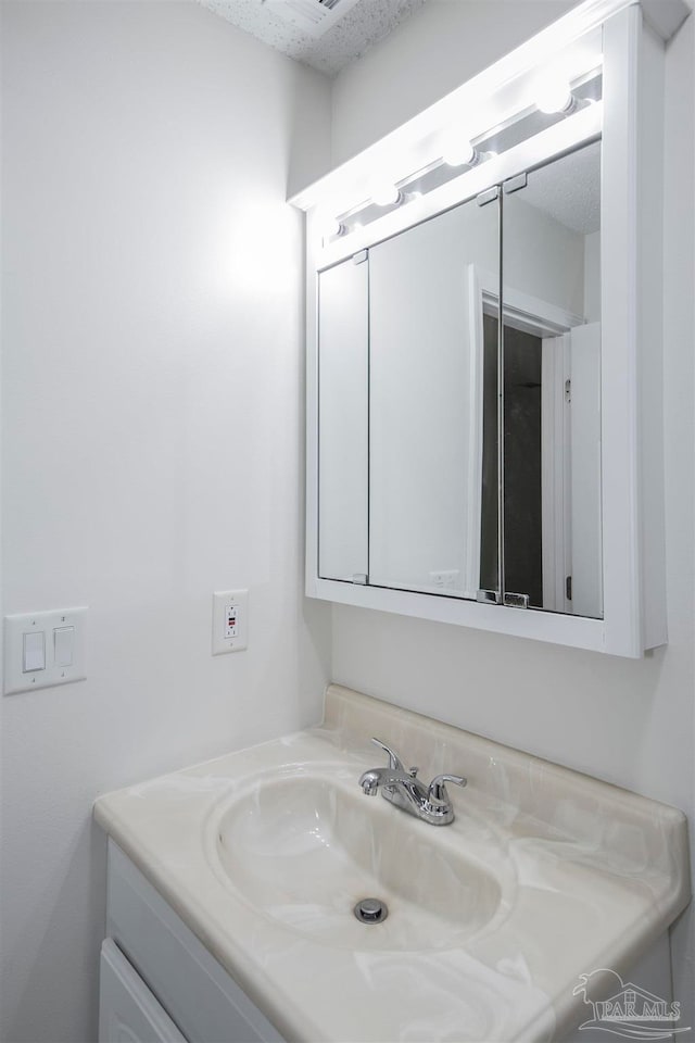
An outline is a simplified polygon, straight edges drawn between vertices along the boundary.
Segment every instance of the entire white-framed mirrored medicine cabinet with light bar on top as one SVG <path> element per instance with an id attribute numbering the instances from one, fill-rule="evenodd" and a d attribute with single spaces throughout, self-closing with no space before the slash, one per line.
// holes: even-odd
<path id="1" fill-rule="evenodd" d="M 577 10 L 530 41 L 574 63 L 564 112 L 525 104 L 539 71 L 522 48 L 486 71 L 467 164 L 424 163 L 381 208 L 355 188 L 365 202 L 329 235 L 326 199 L 379 150 L 295 200 L 306 589 L 639 656 L 666 640 L 661 186 L 644 146 L 658 106 L 641 101 L 658 97 L 662 42 L 636 5 Z M 402 136 L 421 137 L 418 121 Z"/>

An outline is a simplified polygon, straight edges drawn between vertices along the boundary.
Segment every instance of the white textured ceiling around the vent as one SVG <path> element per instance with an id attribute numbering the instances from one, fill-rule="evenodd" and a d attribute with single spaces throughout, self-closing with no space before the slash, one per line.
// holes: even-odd
<path id="1" fill-rule="evenodd" d="M 277 15 L 264 0 L 200 0 L 232 25 L 283 54 L 336 76 L 384 39 L 426 0 L 358 0 L 319 39 Z"/>

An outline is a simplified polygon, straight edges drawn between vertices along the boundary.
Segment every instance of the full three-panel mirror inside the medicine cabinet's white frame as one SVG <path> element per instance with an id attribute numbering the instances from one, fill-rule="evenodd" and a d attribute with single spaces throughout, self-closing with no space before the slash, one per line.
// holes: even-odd
<path id="1" fill-rule="evenodd" d="M 319 273 L 320 578 L 601 618 L 599 221 L 595 141 Z"/>

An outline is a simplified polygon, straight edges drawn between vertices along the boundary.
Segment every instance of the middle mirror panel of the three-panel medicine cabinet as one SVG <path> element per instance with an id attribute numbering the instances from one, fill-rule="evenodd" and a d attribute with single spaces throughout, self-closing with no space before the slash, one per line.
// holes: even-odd
<path id="1" fill-rule="evenodd" d="M 498 202 L 471 200 L 369 251 L 371 585 L 476 599 L 480 274 L 498 272 Z"/>

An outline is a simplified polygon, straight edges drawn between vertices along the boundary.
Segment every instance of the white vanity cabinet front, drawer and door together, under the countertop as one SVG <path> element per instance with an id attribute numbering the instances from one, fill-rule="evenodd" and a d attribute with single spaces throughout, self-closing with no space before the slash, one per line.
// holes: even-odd
<path id="1" fill-rule="evenodd" d="M 282 1043 L 167 902 L 109 841 L 100 1043 Z"/>

